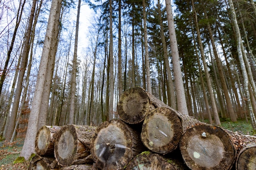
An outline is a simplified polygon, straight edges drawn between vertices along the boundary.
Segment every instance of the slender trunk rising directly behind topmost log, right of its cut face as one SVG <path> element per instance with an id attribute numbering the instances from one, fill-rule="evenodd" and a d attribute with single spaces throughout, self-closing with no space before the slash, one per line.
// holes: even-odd
<path id="1" fill-rule="evenodd" d="M 145 0 L 142 0 L 142 6 L 143 6 L 143 28 L 144 28 L 145 70 L 146 70 L 147 91 L 150 94 L 152 94 L 151 81 L 150 81 L 149 56 L 148 56 L 148 32 L 147 32 L 147 17 L 146 17 Z"/>

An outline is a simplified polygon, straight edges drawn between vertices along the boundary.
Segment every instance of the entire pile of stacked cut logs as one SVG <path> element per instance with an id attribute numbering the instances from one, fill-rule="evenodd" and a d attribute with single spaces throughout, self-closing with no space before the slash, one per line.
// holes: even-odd
<path id="1" fill-rule="evenodd" d="M 43 126 L 29 170 L 256 169 L 256 138 L 185 116 L 144 89 L 128 89 L 120 119 Z"/>

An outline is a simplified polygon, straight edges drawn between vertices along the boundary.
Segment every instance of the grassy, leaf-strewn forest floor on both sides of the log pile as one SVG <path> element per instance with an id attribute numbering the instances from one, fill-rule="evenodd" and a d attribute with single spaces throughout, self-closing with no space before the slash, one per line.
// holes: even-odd
<path id="1" fill-rule="evenodd" d="M 253 135 L 251 123 L 245 120 L 238 120 L 238 122 L 226 120 L 221 122 L 221 125 L 233 132 Z M 26 170 L 28 168 L 29 161 L 15 162 L 20 155 L 23 143 L 24 139 L 17 139 L 11 144 L 5 144 L 4 140 L 0 139 L 0 170 Z"/>

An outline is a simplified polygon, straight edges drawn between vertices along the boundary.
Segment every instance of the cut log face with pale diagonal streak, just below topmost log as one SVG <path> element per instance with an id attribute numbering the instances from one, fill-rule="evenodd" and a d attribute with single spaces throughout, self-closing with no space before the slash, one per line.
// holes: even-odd
<path id="1" fill-rule="evenodd" d="M 179 146 L 182 132 L 182 125 L 176 113 L 171 109 L 159 107 L 146 115 L 141 140 L 153 152 L 166 154 Z"/>

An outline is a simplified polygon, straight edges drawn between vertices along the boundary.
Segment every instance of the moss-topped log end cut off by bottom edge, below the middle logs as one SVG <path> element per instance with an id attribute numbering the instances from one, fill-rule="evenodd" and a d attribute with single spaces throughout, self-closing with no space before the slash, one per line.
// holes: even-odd
<path id="1" fill-rule="evenodd" d="M 178 170 L 179 167 L 168 163 L 163 157 L 149 151 L 137 155 L 127 165 L 126 170 Z"/>

